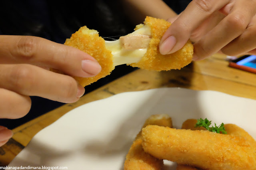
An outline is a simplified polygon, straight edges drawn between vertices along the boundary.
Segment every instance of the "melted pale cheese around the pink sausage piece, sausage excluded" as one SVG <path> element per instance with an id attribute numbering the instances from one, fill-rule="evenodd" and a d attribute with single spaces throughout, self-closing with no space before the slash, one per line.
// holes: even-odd
<path id="1" fill-rule="evenodd" d="M 127 36 L 132 35 L 147 35 L 151 36 L 150 27 L 142 26 L 138 30 L 128 34 Z M 147 48 L 133 49 L 128 50 L 124 49 L 120 40 L 115 41 L 105 41 L 106 48 L 112 51 L 112 55 L 114 58 L 114 66 L 122 65 L 122 64 L 131 64 L 137 63 L 143 57 L 143 55 L 147 52 Z"/>

